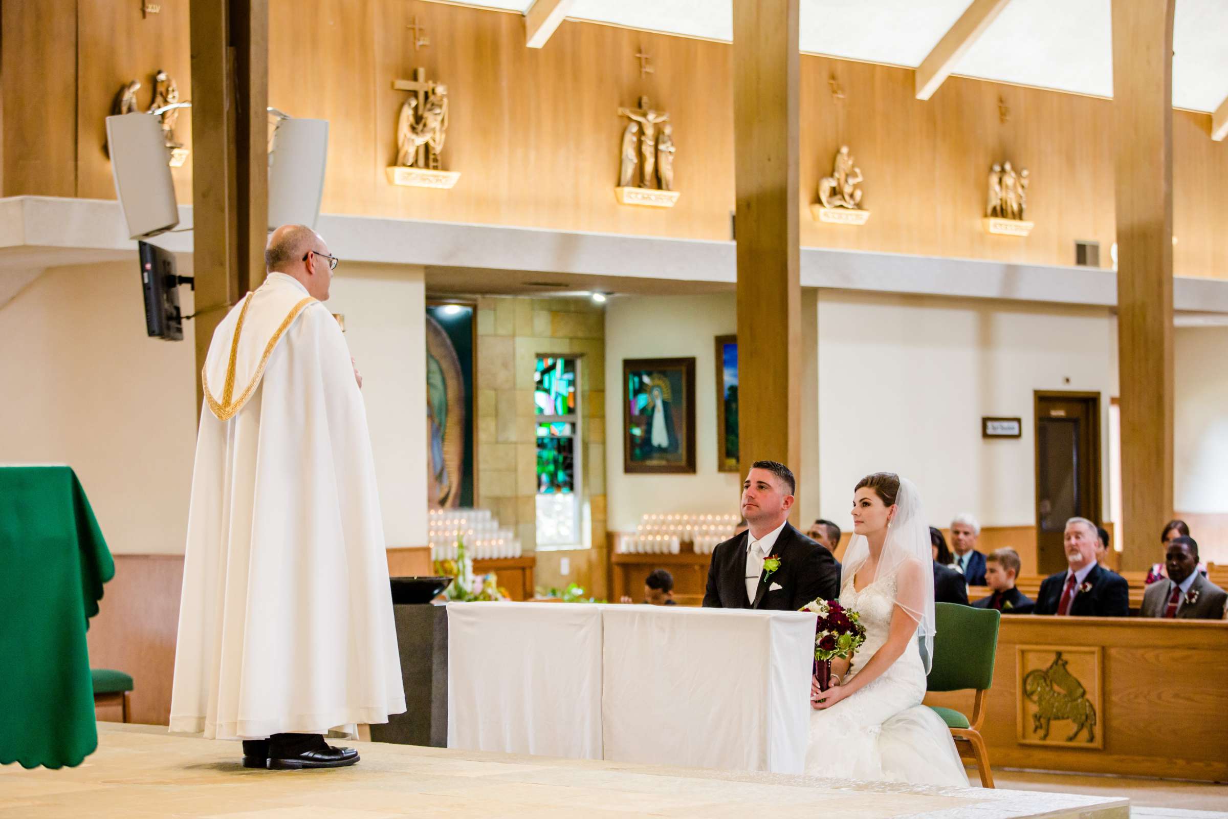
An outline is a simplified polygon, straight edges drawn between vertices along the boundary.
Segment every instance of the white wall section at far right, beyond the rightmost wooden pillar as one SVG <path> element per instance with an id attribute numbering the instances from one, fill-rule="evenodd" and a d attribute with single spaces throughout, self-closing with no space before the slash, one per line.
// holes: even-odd
<path id="1" fill-rule="evenodd" d="M 1228 328 L 1174 334 L 1173 508 L 1228 512 Z"/>

